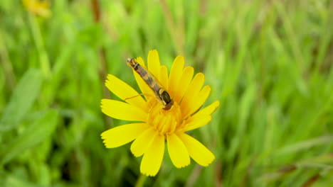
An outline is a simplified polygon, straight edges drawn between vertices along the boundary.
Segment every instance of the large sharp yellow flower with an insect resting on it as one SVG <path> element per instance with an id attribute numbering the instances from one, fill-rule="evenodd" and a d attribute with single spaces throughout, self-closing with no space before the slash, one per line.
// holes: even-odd
<path id="1" fill-rule="evenodd" d="M 137 62 L 145 67 L 141 57 L 137 58 Z M 132 154 L 135 157 L 143 155 L 140 171 L 147 176 L 155 176 L 159 171 L 165 140 L 171 162 L 177 168 L 189 165 L 190 157 L 198 164 L 208 166 L 215 159 L 213 153 L 186 134 L 209 123 L 211 114 L 219 106 L 219 101 L 215 101 L 198 111 L 211 92 L 210 86 L 203 86 L 204 75 L 198 73 L 192 79 L 193 67 L 184 68 L 184 57 L 178 56 L 168 76 L 166 66 L 159 63 L 157 50 L 149 52 L 147 69 L 173 98 L 173 106 L 169 110 L 162 109 L 163 104 L 137 72 L 134 72 L 134 77 L 144 97 L 109 74 L 105 86 L 125 102 L 102 99 L 102 112 L 112 118 L 139 123 L 120 125 L 102 132 L 105 147 L 120 147 L 134 140 Z"/>

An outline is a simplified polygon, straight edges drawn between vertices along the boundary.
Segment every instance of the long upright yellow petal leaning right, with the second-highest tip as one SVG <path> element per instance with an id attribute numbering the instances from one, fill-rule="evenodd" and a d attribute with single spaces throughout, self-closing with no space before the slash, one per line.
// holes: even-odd
<path id="1" fill-rule="evenodd" d="M 181 79 L 181 73 L 184 69 L 184 57 L 177 56 L 174 60 L 174 64 L 172 64 L 171 70 L 170 70 L 170 77 L 169 77 L 169 95 L 171 98 L 174 98 L 174 93 L 176 92 L 176 88 L 179 84 L 179 81 Z"/>

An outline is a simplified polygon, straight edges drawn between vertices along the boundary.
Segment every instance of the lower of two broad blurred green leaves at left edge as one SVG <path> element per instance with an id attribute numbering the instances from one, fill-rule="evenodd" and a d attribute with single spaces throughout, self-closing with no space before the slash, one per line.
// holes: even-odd
<path id="1" fill-rule="evenodd" d="M 56 129 L 57 120 L 58 111 L 47 111 L 42 118 L 28 126 L 21 135 L 10 142 L 7 147 L 0 150 L 0 164 L 6 164 L 18 154 L 35 147 L 38 143 L 51 137 Z"/>

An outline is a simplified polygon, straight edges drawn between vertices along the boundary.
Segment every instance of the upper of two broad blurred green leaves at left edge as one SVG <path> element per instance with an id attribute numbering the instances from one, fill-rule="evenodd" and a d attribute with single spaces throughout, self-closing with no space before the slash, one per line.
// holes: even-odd
<path id="1" fill-rule="evenodd" d="M 11 130 L 18 125 L 35 102 L 41 84 L 41 73 L 37 69 L 29 69 L 23 75 L 0 119 L 0 133 Z"/>

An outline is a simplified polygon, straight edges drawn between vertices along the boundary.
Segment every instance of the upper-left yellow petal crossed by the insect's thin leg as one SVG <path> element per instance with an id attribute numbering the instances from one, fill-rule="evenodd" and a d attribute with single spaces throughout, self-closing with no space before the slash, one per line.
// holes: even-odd
<path id="1" fill-rule="evenodd" d="M 105 86 L 107 86 L 107 89 L 112 91 L 113 94 L 126 101 L 127 103 L 137 106 L 143 111 L 148 112 L 146 101 L 144 101 L 144 98 L 139 96 L 139 93 L 137 93 L 137 91 L 135 91 L 131 86 L 112 74 L 108 74 L 107 79 L 108 80 L 105 81 Z"/>

